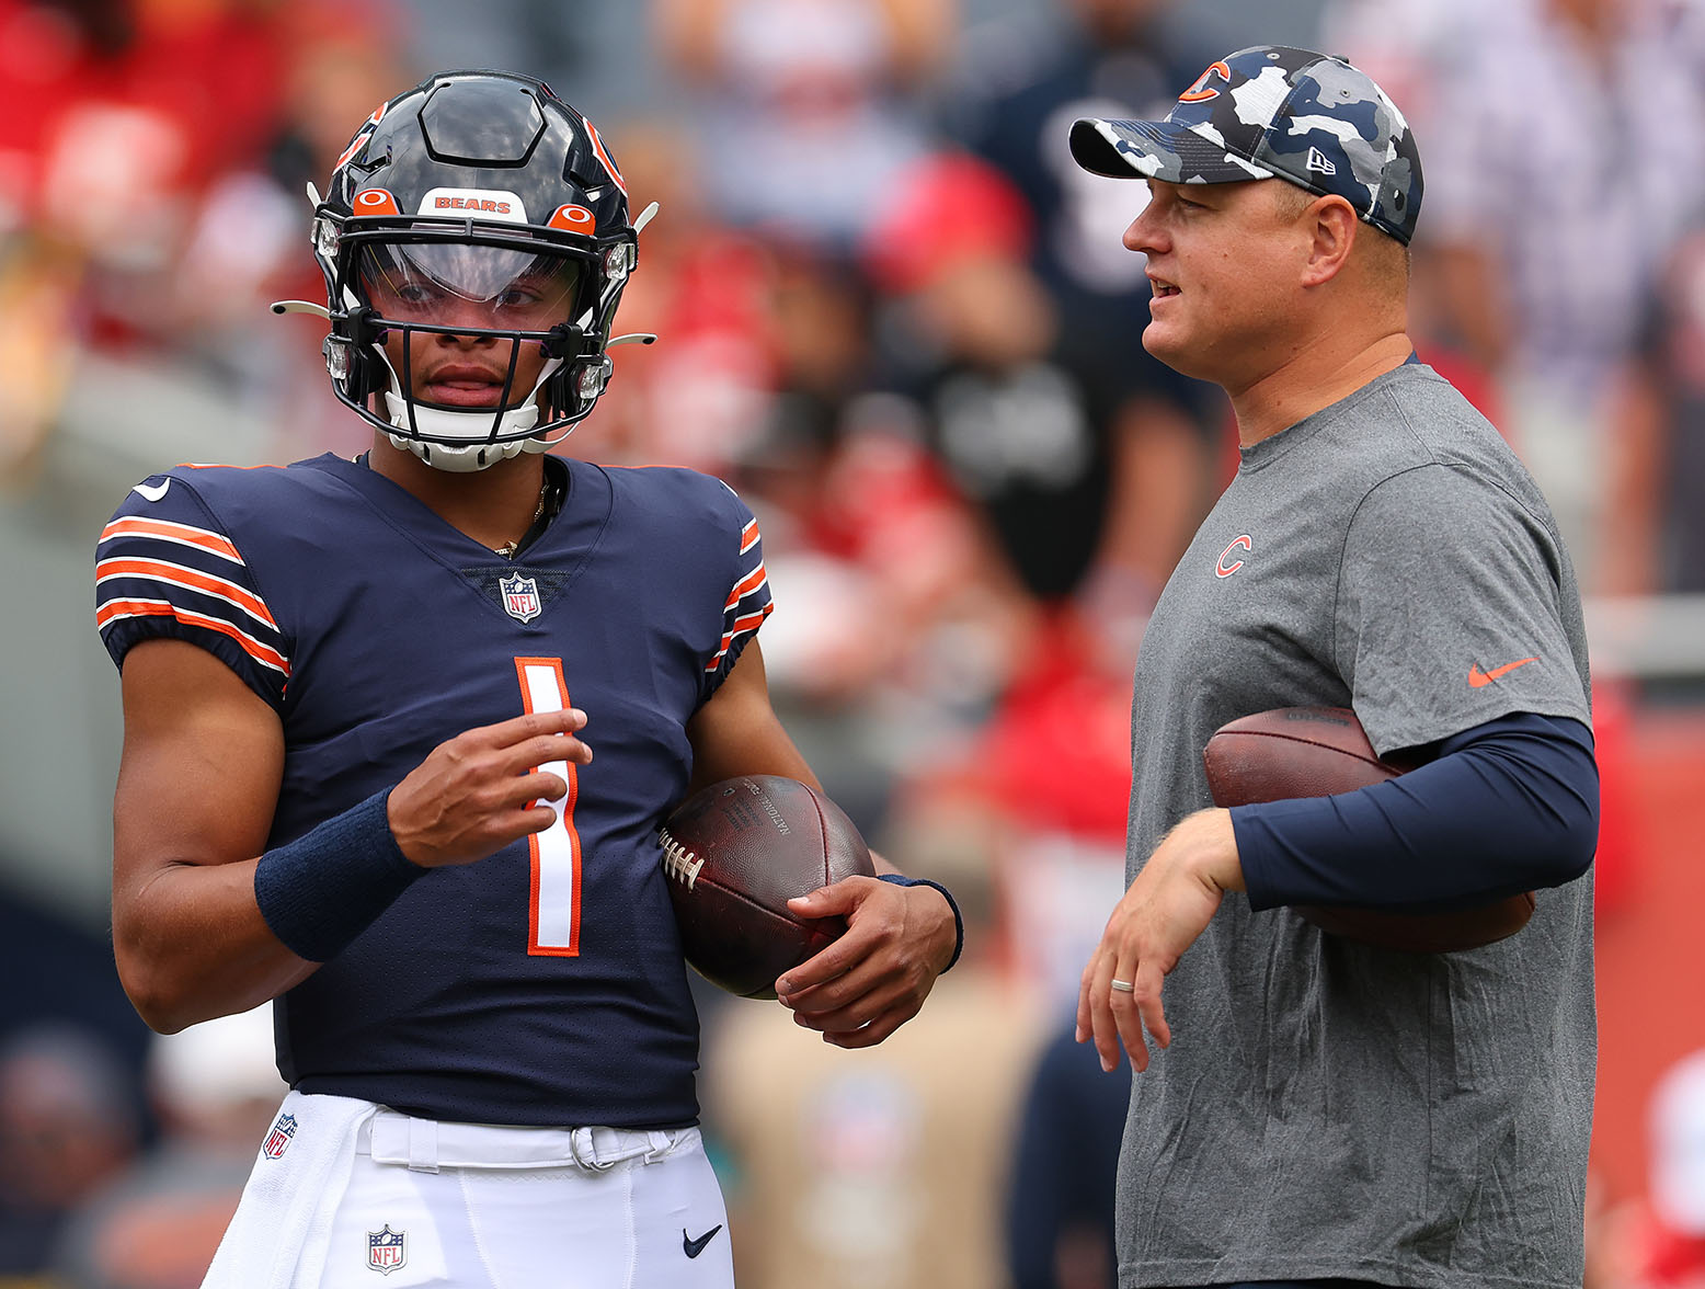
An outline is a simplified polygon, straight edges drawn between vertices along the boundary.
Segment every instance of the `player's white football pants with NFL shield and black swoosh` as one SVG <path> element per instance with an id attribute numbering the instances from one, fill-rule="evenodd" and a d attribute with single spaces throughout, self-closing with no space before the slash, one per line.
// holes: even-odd
<path id="1" fill-rule="evenodd" d="M 726 1224 L 697 1129 L 447 1124 L 290 1093 L 203 1289 L 733 1289 Z"/>

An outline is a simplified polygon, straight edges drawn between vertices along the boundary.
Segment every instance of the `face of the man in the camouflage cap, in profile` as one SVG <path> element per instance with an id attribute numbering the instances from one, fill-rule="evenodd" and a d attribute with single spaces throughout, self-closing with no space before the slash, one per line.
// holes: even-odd
<path id="1" fill-rule="evenodd" d="M 1299 220 L 1275 205 L 1282 181 L 1170 184 L 1125 228 L 1147 254 L 1142 346 L 1185 375 L 1236 389 L 1262 375 L 1294 331 Z"/>

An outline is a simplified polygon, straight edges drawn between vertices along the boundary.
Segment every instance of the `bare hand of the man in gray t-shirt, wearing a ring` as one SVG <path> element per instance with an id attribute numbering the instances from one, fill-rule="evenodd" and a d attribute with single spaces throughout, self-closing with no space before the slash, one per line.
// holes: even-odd
<path id="1" fill-rule="evenodd" d="M 1243 890 L 1229 810 L 1200 810 L 1178 824 L 1137 873 L 1107 919 L 1101 943 L 1078 987 L 1078 1042 L 1095 1040 L 1101 1069 L 1125 1045 L 1134 1069 L 1149 1067 L 1147 1028 L 1166 1047 L 1171 1030 L 1161 982 L 1207 929 L 1228 890 Z M 1113 989 L 1122 980 L 1127 989 Z"/>

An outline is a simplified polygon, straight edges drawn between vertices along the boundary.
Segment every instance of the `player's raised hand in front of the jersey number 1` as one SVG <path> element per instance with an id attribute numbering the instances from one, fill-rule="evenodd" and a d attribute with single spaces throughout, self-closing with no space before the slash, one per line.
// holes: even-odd
<path id="1" fill-rule="evenodd" d="M 515 716 L 440 743 L 390 789 L 387 817 L 397 847 L 421 868 L 472 864 L 513 841 L 544 832 L 568 795 L 551 762 L 585 766 L 592 749 L 575 735 L 578 708 Z"/>

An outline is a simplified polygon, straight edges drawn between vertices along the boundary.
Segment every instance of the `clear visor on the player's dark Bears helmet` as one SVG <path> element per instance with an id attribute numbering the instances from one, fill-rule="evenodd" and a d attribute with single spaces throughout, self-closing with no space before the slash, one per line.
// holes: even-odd
<path id="1" fill-rule="evenodd" d="M 373 242 L 356 257 L 368 305 L 392 322 L 549 331 L 571 322 L 583 264 L 469 242 Z"/>

